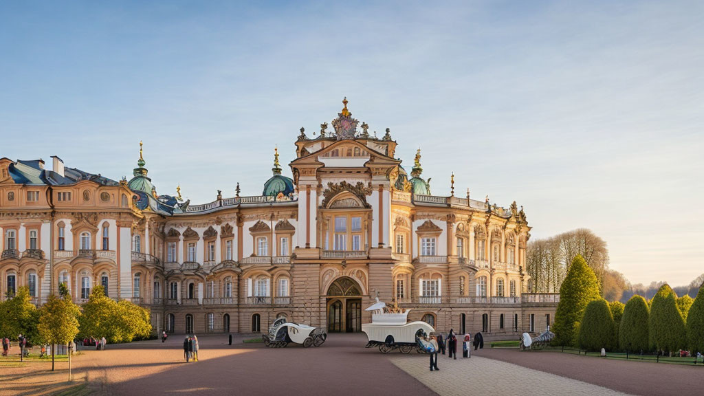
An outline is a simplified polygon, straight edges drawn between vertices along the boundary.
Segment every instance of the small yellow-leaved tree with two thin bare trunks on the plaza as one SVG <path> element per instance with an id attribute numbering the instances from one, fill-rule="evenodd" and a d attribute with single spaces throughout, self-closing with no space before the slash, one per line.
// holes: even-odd
<path id="1" fill-rule="evenodd" d="M 62 284 L 63 285 L 63 284 Z M 51 345 L 68 344 L 78 334 L 80 309 L 71 301 L 68 290 L 61 288 L 61 297 L 50 295 L 46 304 L 39 310 L 37 330 L 39 337 Z M 70 380 L 70 354 L 69 354 Z M 54 350 L 51 353 L 51 371 L 54 371 Z"/>

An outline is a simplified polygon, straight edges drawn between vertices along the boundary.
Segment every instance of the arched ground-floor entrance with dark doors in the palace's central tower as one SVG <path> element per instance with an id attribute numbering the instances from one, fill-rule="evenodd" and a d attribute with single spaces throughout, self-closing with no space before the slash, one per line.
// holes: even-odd
<path id="1" fill-rule="evenodd" d="M 327 331 L 356 333 L 362 330 L 362 292 L 351 278 L 335 280 L 327 288 Z"/>

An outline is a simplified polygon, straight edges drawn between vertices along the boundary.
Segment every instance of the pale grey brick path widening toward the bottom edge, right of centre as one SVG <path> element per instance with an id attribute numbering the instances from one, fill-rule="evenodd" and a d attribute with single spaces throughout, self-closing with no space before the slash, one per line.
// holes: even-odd
<path id="1" fill-rule="evenodd" d="M 461 356 L 461 354 L 460 354 Z M 617 396 L 625 395 L 591 383 L 527 369 L 515 364 L 473 355 L 449 359 L 440 355 L 438 368 L 429 370 L 429 359 L 391 361 L 440 396 Z"/>

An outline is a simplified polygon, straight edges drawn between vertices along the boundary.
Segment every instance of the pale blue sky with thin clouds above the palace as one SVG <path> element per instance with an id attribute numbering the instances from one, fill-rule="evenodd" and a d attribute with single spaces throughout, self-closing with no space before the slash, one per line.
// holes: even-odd
<path id="1" fill-rule="evenodd" d="M 114 3 L 0 4 L 0 157 L 118 179 L 144 140 L 160 194 L 260 194 L 346 96 L 434 194 L 591 228 L 633 283 L 704 272 L 700 1 Z"/>

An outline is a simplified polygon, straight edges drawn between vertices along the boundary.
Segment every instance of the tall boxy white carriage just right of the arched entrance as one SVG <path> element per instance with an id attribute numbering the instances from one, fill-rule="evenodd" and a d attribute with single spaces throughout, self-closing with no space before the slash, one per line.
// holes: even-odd
<path id="1" fill-rule="evenodd" d="M 367 348 L 379 347 L 383 353 L 399 349 L 408 354 L 413 349 L 419 353 L 426 352 L 419 340 L 434 333 L 435 329 L 422 321 L 408 322 L 409 309 L 400 309 L 397 305 L 386 307 L 384 302 L 377 302 L 365 311 L 372 311 L 372 323 L 364 323 L 362 331 L 367 334 Z"/>

